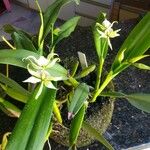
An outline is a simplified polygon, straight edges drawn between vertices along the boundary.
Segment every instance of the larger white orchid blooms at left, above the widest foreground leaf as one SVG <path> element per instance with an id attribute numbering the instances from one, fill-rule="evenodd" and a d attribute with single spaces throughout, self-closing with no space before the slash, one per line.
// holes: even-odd
<path id="1" fill-rule="evenodd" d="M 31 74 L 31 77 L 24 80 L 23 82 L 29 83 L 39 83 L 42 82 L 48 88 L 56 89 L 52 81 L 60 81 L 62 77 L 53 77 L 46 69 L 49 69 L 55 65 L 59 58 L 53 58 L 57 54 L 50 53 L 47 58 L 40 56 L 39 59 L 36 59 L 34 56 L 28 56 L 24 60 L 29 61 L 27 65 L 27 70 Z"/>

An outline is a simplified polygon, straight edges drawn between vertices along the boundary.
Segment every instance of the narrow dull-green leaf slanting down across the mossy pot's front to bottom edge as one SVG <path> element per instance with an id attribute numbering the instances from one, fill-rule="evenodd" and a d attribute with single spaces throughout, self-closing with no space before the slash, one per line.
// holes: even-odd
<path id="1" fill-rule="evenodd" d="M 89 135 L 91 135 L 96 140 L 98 140 L 100 143 L 105 145 L 109 150 L 114 150 L 114 148 L 111 146 L 111 144 L 109 144 L 109 142 L 96 129 L 94 129 L 90 124 L 88 124 L 84 121 L 82 126 L 89 133 Z"/>

